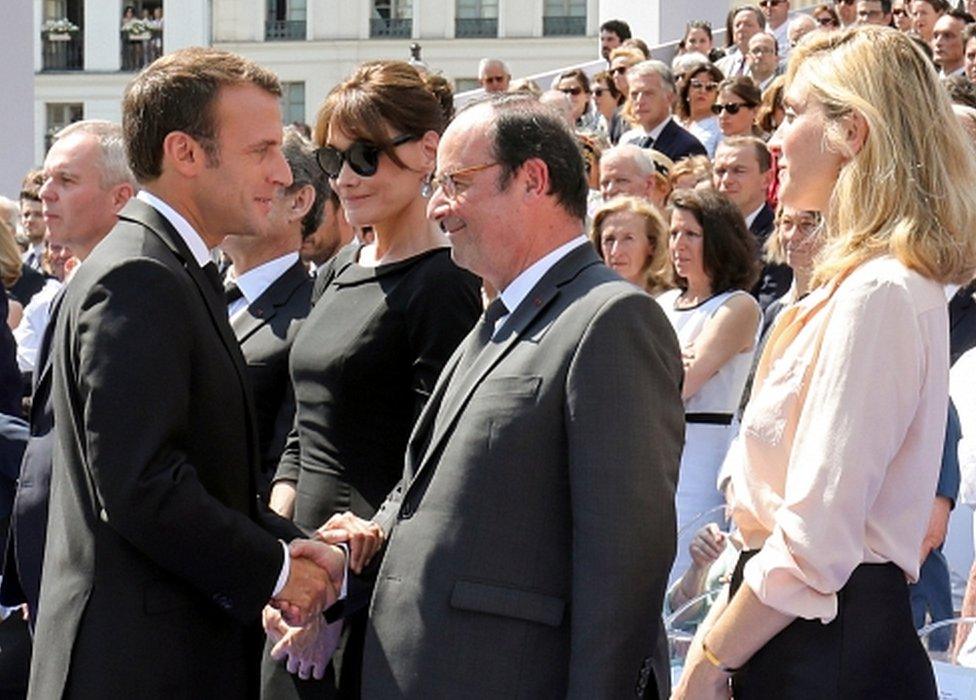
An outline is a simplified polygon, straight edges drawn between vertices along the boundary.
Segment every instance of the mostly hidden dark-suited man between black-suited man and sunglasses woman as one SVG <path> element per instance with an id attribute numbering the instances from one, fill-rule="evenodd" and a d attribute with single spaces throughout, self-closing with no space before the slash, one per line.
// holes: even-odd
<path id="1" fill-rule="evenodd" d="M 302 237 L 321 222 L 329 191 L 311 142 L 288 128 L 281 150 L 293 182 L 275 199 L 267 231 L 227 236 L 221 244 L 233 263 L 224 284 L 227 313 L 254 392 L 261 453 L 258 492 L 265 500 L 295 418 L 288 354 L 311 308 L 312 278 L 298 249 Z"/>

